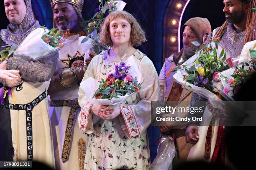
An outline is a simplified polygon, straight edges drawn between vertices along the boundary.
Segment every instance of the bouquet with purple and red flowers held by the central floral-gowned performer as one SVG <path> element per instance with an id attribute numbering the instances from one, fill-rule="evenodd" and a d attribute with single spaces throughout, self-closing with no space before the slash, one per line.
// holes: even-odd
<path id="1" fill-rule="evenodd" d="M 129 96 L 141 89 L 141 74 L 135 65 L 133 56 L 126 63 L 120 62 L 115 65 L 114 72 L 101 82 L 92 77 L 81 82 L 80 87 L 84 90 L 87 100 L 92 104 L 118 105 Z"/>

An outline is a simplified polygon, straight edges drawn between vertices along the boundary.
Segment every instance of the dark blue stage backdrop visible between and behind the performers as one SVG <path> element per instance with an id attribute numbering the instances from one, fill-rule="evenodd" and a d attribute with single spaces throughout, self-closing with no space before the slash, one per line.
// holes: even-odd
<path id="1" fill-rule="evenodd" d="M 52 11 L 49 0 L 31 0 L 36 18 L 41 25 L 52 28 Z M 172 4 L 188 0 L 123 0 L 127 2 L 126 11 L 133 14 L 142 28 L 146 31 L 147 42 L 138 47 L 141 52 L 145 53 L 154 63 L 157 72 L 160 72 L 163 59 L 169 57 L 164 55 L 165 46 L 171 46 L 169 42 L 164 42 L 164 18 L 173 12 Z M 85 20 L 90 19 L 94 15 L 94 10 L 98 7 L 98 0 L 85 0 L 82 15 Z M 190 0 L 181 20 L 182 25 L 192 17 L 208 18 L 212 25 L 212 29 L 222 25 L 225 21 L 223 14 L 223 0 Z M 3 0 L 0 2 L 0 29 L 6 28 L 8 20 L 5 16 Z M 177 49 L 177 48 L 175 48 Z M 175 52 L 178 52 L 176 50 Z M 159 130 L 156 127 L 148 128 L 148 136 L 151 150 L 151 161 L 156 156 L 157 143 L 154 143 L 159 137 Z"/>

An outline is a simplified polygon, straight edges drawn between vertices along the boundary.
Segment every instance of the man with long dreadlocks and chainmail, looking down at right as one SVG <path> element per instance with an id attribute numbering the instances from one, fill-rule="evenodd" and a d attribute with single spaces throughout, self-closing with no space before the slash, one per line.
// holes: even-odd
<path id="1" fill-rule="evenodd" d="M 220 28 L 216 28 L 208 39 L 220 39 L 218 51 L 224 49 L 227 58 L 238 57 L 243 45 L 256 39 L 256 15 L 251 10 L 256 6 L 256 0 L 223 0 L 223 3 L 226 21 Z M 198 101 L 205 101 L 205 98 L 193 92 L 190 106 L 197 107 Z M 205 117 L 204 112 L 204 119 L 211 119 L 215 109 L 210 102 L 206 102 L 206 105 L 205 112 L 210 112 L 210 114 L 208 114 L 209 117 Z M 223 126 L 205 125 L 198 129 L 197 125 L 190 125 L 186 130 L 186 140 L 194 144 L 189 152 L 188 160 L 205 159 L 212 163 L 225 162 Z"/>

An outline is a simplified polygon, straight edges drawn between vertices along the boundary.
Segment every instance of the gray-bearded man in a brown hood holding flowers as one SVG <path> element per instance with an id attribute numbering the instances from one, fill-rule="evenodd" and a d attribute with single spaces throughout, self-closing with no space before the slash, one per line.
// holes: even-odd
<path id="1" fill-rule="evenodd" d="M 199 48 L 192 44 L 193 41 L 202 43 L 211 32 L 210 22 L 206 18 L 191 18 L 182 27 L 183 48 L 180 52 L 170 56 L 164 62 L 159 75 L 160 100 L 187 102 L 191 99 L 191 92 L 183 90 L 182 86 L 174 82 L 170 70 L 175 65 L 181 65 L 195 54 Z M 189 105 L 187 106 L 189 107 Z M 189 153 L 190 144 L 185 141 L 186 129 L 173 129 L 172 125 L 159 126 L 161 133 L 174 135 L 177 144 L 179 161 L 185 161 Z"/>

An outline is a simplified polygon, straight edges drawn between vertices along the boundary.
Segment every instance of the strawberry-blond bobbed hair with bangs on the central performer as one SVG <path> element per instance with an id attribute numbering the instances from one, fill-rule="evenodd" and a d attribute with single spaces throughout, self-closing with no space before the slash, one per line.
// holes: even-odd
<path id="1" fill-rule="evenodd" d="M 100 28 L 100 44 L 106 46 L 113 46 L 113 42 L 110 37 L 110 22 L 115 18 L 124 18 L 131 25 L 131 37 L 130 42 L 132 46 L 139 46 L 142 42 L 146 41 L 145 32 L 142 30 L 138 21 L 126 11 L 115 11 L 110 13 L 104 20 Z"/>

